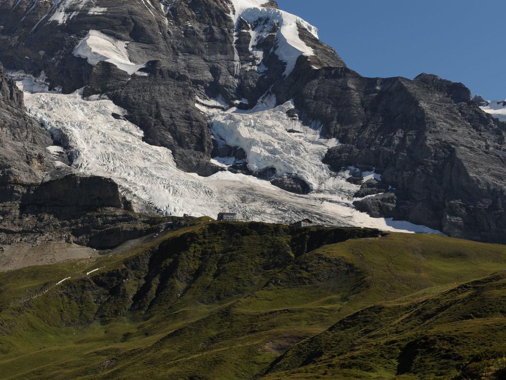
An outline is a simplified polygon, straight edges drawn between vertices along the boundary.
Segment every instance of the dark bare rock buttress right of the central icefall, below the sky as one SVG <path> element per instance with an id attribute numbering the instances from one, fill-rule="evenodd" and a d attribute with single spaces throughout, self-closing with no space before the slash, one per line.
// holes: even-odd
<path id="1" fill-rule="evenodd" d="M 506 242 L 506 125 L 482 112 L 465 86 L 427 74 L 369 79 L 347 68 L 295 78 L 276 89 L 278 100 L 294 98 L 305 118 L 342 142 L 324 160 L 334 170 L 375 168 L 396 188 L 392 216 Z"/>

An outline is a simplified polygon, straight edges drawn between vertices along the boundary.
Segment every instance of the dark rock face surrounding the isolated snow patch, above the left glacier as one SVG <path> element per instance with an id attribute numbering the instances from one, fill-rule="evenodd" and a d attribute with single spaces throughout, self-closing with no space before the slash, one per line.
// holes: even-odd
<path id="1" fill-rule="evenodd" d="M 239 21 L 234 34 L 232 5 L 226 0 L 160 4 L 163 9 L 134 0 L 72 3 L 65 12 L 73 16 L 59 24 L 51 21 L 58 7 L 7 0 L 0 4 L 0 60 L 35 74 L 44 70 L 65 93 L 86 86 L 85 95 L 106 94 L 128 110 L 128 119 L 145 132 L 146 142 L 170 148 L 181 169 L 210 175 L 219 168 L 209 163 L 212 138 L 206 118 L 194 106 L 196 95 L 222 96 L 231 105 L 236 99 L 255 104 L 282 80 L 284 64 L 272 52 L 277 43 L 272 36 L 257 47 L 264 51 L 266 72 L 251 69 L 256 64 L 249 49 L 251 25 Z M 90 13 L 92 7 L 107 12 Z M 91 66 L 73 56 L 89 30 L 129 42 L 132 59 L 150 62 L 143 69 L 149 76 L 131 77 L 111 63 Z"/>

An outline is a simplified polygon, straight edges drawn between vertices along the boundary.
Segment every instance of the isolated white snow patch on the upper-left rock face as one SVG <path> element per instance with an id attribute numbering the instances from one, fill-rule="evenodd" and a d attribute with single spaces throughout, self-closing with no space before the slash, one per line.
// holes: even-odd
<path id="1" fill-rule="evenodd" d="M 120 70 L 132 75 L 144 67 L 146 63 L 135 64 L 130 60 L 128 51 L 126 51 L 128 44 L 128 42 L 116 40 L 101 31 L 90 30 L 74 49 L 73 54 L 76 57 L 86 58 L 91 65 L 96 65 L 101 61 L 110 62 Z"/>

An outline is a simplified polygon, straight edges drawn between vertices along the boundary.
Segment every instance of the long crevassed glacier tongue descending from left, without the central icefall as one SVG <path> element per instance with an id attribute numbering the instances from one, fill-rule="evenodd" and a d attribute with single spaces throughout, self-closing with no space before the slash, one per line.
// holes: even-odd
<path id="1" fill-rule="evenodd" d="M 77 93 L 26 93 L 25 102 L 30 115 L 56 140 L 68 141 L 66 148 L 75 158 L 74 170 L 112 178 L 133 198 L 138 211 L 145 210 L 146 205 L 166 215 L 216 216 L 227 210 L 246 220 L 291 222 L 310 217 L 326 224 L 432 231 L 411 223 L 394 226 L 391 220 L 373 219 L 349 207 L 349 199 L 339 192 L 301 196 L 269 181 L 228 171 L 206 178 L 185 173 L 176 167 L 170 150 L 145 143 L 138 127 L 114 119 L 113 112 L 122 115 L 124 111 L 107 99 L 85 100 Z M 351 185 L 344 185 L 345 177 L 329 177 L 325 186 L 336 189 L 340 184 Z"/>

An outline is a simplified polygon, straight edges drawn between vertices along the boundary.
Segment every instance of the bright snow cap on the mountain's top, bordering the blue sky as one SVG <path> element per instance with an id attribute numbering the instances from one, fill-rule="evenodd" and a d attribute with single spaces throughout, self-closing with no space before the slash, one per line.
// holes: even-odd
<path id="1" fill-rule="evenodd" d="M 236 29 L 239 19 L 249 24 L 256 24 L 252 33 L 252 39 L 255 39 L 252 45 L 256 45 L 268 36 L 273 28 L 277 29 L 275 53 L 286 63 L 285 75 L 293 70 L 301 55 L 314 55 L 313 49 L 307 46 L 299 35 L 299 27 L 303 27 L 318 38 L 318 29 L 307 21 L 279 9 L 262 7 L 268 3 L 266 0 L 230 0 L 230 2 L 232 3 L 230 16 L 234 20 Z"/>

